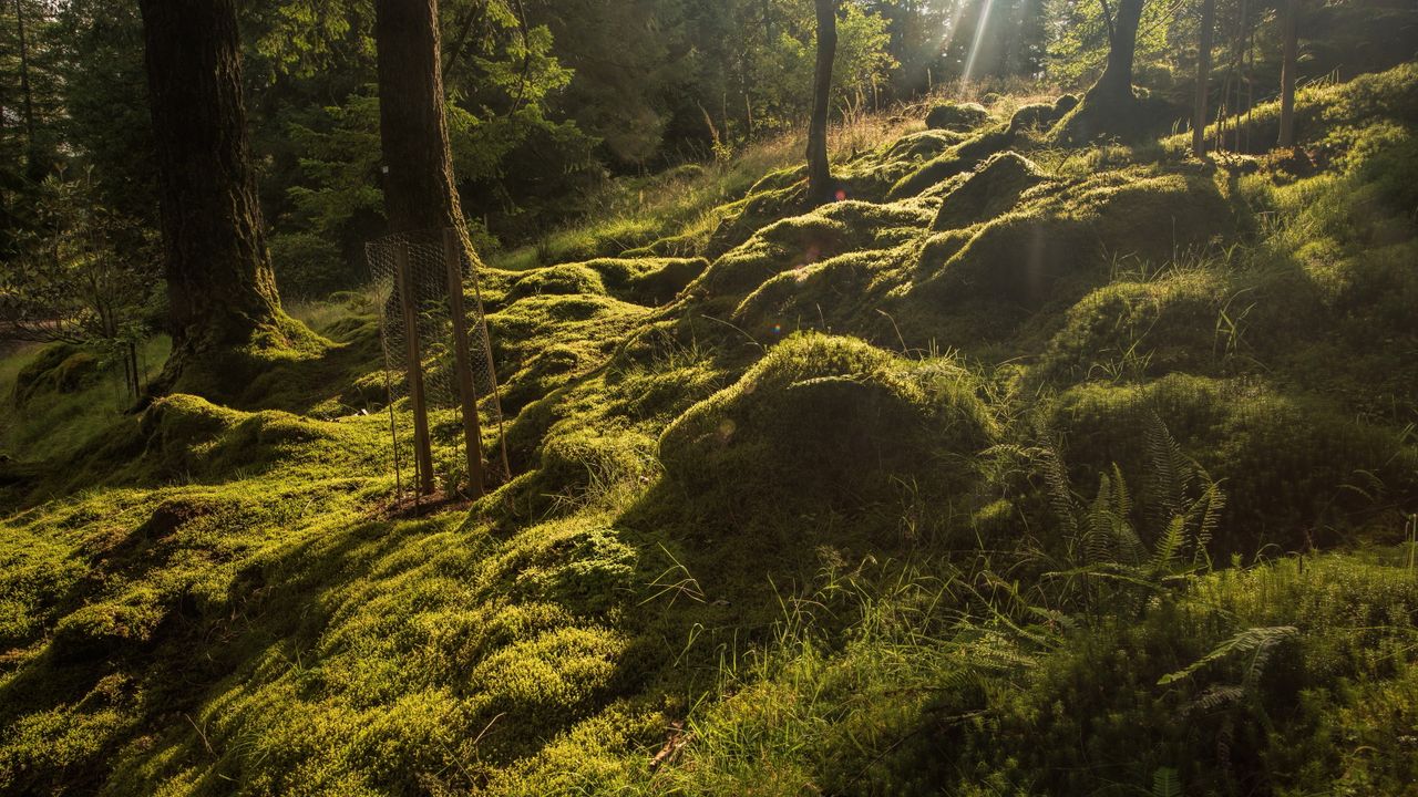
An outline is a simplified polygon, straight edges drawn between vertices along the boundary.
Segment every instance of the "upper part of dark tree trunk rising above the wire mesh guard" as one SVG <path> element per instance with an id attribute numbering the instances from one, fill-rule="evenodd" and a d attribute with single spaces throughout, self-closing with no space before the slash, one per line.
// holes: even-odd
<path id="1" fill-rule="evenodd" d="M 452 176 L 438 58 L 438 0 L 376 0 L 384 211 L 393 233 L 467 223 Z"/>

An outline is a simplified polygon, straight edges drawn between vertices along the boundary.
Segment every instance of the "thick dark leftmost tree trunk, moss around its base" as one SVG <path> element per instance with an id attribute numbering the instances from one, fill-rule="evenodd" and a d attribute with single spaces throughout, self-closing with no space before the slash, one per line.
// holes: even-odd
<path id="1" fill-rule="evenodd" d="M 281 313 L 250 163 L 235 0 L 139 7 L 173 336 L 162 383 L 172 389 L 194 360 L 294 322 Z"/>

